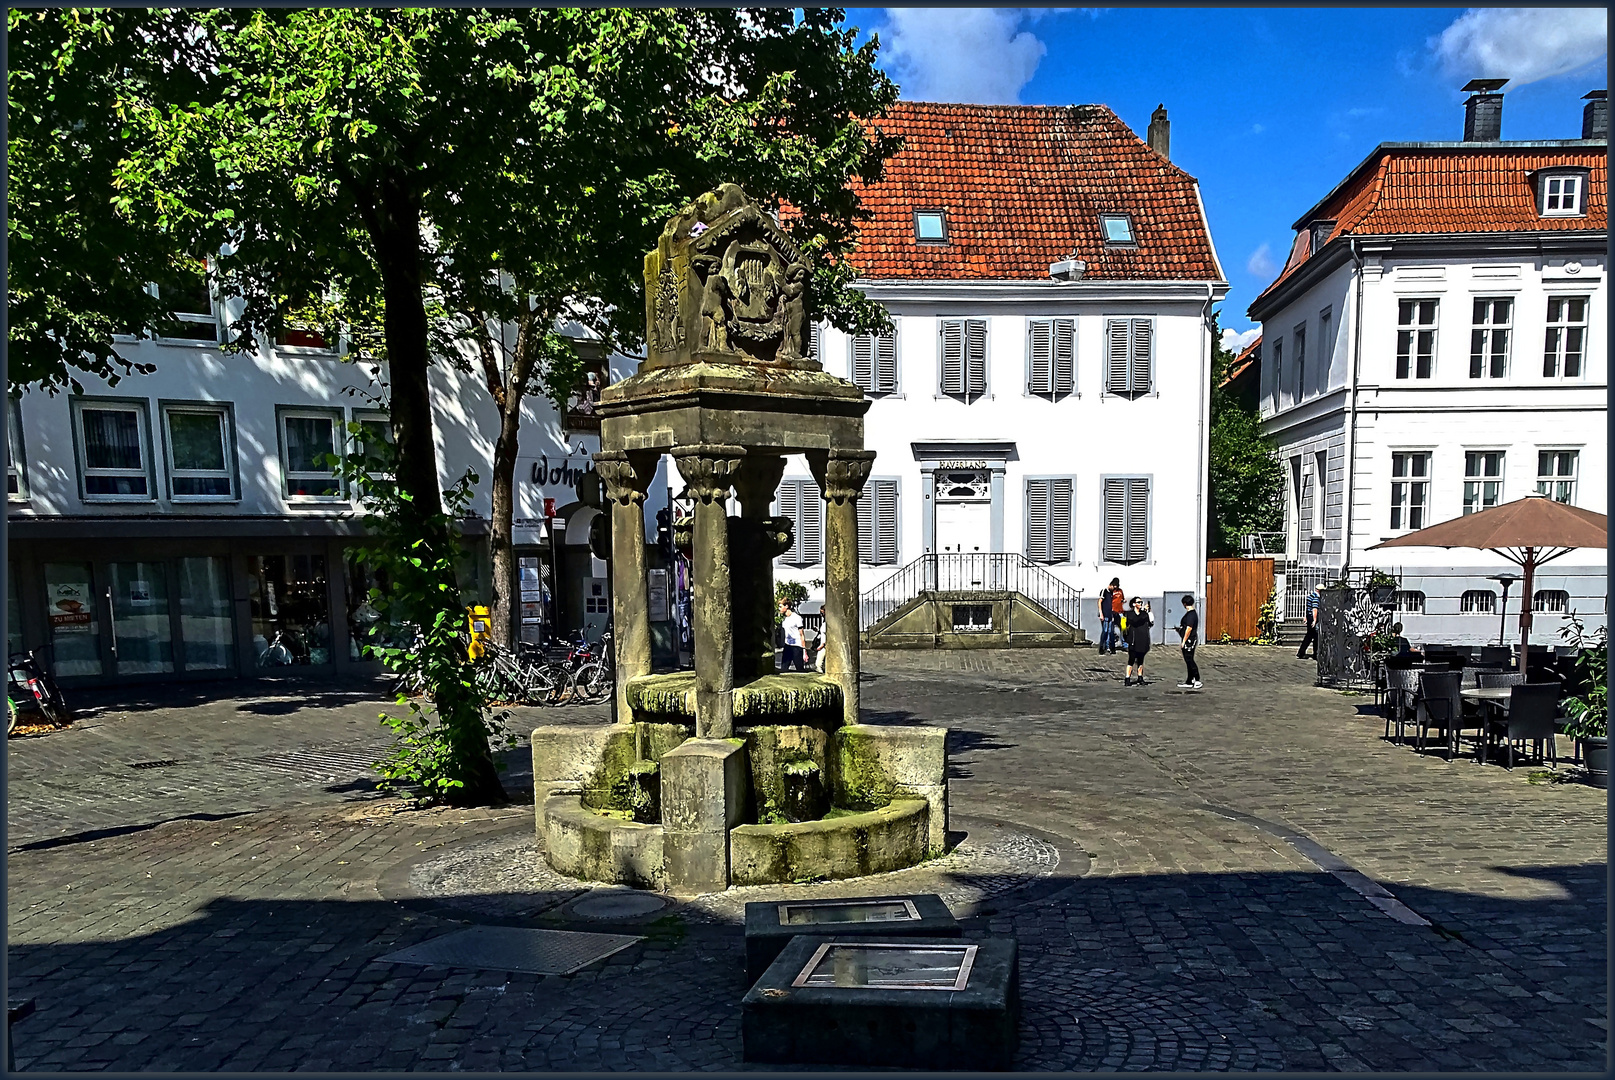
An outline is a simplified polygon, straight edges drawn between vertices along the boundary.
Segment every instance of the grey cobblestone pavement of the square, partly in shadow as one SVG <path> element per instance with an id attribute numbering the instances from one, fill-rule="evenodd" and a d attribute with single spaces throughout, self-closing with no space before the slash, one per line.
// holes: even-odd
<path id="1" fill-rule="evenodd" d="M 954 825 L 1043 852 L 972 902 L 929 872 L 967 933 L 1021 943 L 1019 1065 L 1602 1070 L 1605 794 L 1391 746 L 1284 651 L 1202 654 L 1198 694 L 1176 657 L 1147 688 L 1092 651 L 866 659 L 866 720 L 953 731 Z M 501 914 L 464 872 L 426 902 L 423 867 L 530 843 L 531 806 L 399 812 L 263 764 L 383 747 L 373 693 L 153 699 L 10 743 L 18 1065 L 743 1067 L 738 898 L 583 925 L 568 881 Z M 570 720 L 599 717 L 512 723 Z M 465 922 L 646 940 L 570 977 L 375 962 Z"/>

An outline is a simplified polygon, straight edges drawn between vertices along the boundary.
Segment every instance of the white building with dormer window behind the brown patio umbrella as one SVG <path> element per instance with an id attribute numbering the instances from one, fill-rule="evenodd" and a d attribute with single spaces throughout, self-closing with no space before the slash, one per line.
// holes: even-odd
<path id="1" fill-rule="evenodd" d="M 1321 576 L 1381 567 L 1410 639 L 1495 641 L 1492 575 L 1512 563 L 1368 549 L 1529 492 L 1607 512 L 1604 92 L 1581 139 L 1502 142 L 1495 81 L 1466 89 L 1465 139 L 1376 147 L 1295 221 L 1250 307 L 1289 475 L 1290 617 Z M 1594 550 L 1544 567 L 1533 641 L 1558 644 L 1568 609 L 1600 625 L 1605 573 Z"/>

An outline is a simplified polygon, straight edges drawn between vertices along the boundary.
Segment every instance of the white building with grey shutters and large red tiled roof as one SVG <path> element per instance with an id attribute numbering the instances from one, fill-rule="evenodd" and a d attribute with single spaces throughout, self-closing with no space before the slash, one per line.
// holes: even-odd
<path id="1" fill-rule="evenodd" d="M 1210 318 L 1226 284 L 1198 186 L 1166 157 L 1164 110 L 1156 149 L 1103 105 L 901 102 L 880 126 L 906 142 L 861 192 L 874 220 L 854 262 L 896 333 L 819 337 L 825 370 L 872 399 L 866 597 L 924 555 L 1024 555 L 1082 591 L 1090 639 L 1113 576 L 1153 597 L 1166 633 L 1177 597 L 1205 592 Z M 791 460 L 780 512 L 809 510 L 782 576 L 822 578 L 814 504 Z"/>

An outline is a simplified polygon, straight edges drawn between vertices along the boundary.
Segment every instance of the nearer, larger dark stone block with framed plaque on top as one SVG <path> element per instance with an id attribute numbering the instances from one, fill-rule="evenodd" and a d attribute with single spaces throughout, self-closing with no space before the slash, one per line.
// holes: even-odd
<path id="1" fill-rule="evenodd" d="M 880 944 L 888 948 L 885 956 L 900 959 L 904 949 L 937 946 L 930 949 L 935 959 L 904 982 L 888 961 L 838 964 L 835 952 L 827 956 L 837 946 L 877 956 Z M 845 985 L 816 985 L 827 982 Z M 851 938 L 841 944 L 798 936 L 741 1001 L 743 1054 L 748 1062 L 777 1065 L 1006 1070 L 1016 1051 L 1017 982 L 1011 938 Z"/>

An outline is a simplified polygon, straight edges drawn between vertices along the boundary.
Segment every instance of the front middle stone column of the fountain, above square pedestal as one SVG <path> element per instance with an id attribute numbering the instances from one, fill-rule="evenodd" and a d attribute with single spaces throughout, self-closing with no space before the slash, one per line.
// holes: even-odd
<path id="1" fill-rule="evenodd" d="M 746 450 L 691 446 L 673 450 L 685 494 L 694 499 L 691 575 L 696 638 L 696 738 L 727 739 L 735 730 L 735 638 L 730 617 L 728 513 L 724 507 Z"/>

